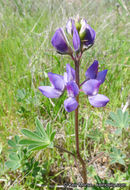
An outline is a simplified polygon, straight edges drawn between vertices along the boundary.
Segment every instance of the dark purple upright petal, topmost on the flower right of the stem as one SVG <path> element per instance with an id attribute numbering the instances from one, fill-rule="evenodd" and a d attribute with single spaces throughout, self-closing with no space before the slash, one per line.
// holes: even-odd
<path id="1" fill-rule="evenodd" d="M 98 73 L 98 61 L 95 60 L 85 73 L 86 79 L 96 79 L 97 73 Z"/>

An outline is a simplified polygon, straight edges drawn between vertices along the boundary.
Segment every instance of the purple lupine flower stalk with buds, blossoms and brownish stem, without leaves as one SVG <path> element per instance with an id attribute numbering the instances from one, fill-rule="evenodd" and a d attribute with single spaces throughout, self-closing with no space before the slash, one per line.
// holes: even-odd
<path id="1" fill-rule="evenodd" d="M 72 39 L 73 47 L 70 45 L 62 28 L 56 30 L 51 43 L 57 53 L 69 55 L 74 62 L 74 68 L 66 64 L 66 72 L 63 75 L 48 73 L 51 86 L 40 86 L 39 90 L 47 98 L 60 98 L 67 91 L 68 98 L 64 101 L 64 108 L 67 112 L 75 111 L 75 142 L 76 154 L 72 154 L 82 165 L 81 175 L 83 182 L 87 183 L 86 162 L 83 160 L 79 149 L 79 93 L 83 92 L 93 107 L 104 107 L 109 99 L 98 94 L 99 87 L 104 83 L 107 70 L 98 71 L 98 61 L 94 60 L 85 73 L 85 80 L 80 83 L 80 62 L 83 53 L 94 45 L 96 33 L 84 18 L 69 19 L 66 24 L 66 33 Z"/>

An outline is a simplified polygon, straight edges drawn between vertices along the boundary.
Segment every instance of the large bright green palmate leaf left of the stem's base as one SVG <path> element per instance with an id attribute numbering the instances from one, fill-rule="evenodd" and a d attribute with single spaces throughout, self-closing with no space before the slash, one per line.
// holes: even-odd
<path id="1" fill-rule="evenodd" d="M 36 131 L 32 132 L 28 129 L 22 129 L 21 132 L 26 136 L 26 138 L 20 140 L 21 145 L 27 145 L 28 149 L 31 151 L 41 150 L 44 148 L 53 148 L 53 139 L 55 136 L 55 131 L 52 131 L 50 124 L 47 125 L 45 130 L 37 118 L 35 120 Z"/>

